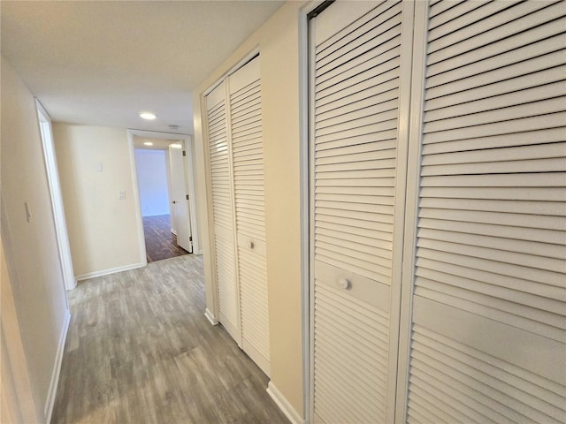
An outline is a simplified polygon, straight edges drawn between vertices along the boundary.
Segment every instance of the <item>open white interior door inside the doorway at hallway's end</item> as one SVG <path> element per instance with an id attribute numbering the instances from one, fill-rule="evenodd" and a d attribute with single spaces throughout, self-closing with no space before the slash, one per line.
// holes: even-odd
<path id="1" fill-rule="evenodd" d="M 175 143 L 180 146 L 169 146 L 169 165 L 171 170 L 172 185 L 172 214 L 174 228 L 177 231 L 177 245 L 185 249 L 188 253 L 193 253 L 193 243 L 191 241 L 191 225 L 188 211 L 188 189 L 185 170 L 185 157 L 183 156 L 184 146 L 182 141 Z"/>

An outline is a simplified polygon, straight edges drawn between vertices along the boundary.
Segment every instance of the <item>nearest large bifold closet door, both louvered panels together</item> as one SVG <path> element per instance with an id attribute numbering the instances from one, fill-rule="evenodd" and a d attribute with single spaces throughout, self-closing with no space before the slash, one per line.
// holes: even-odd
<path id="1" fill-rule="evenodd" d="M 310 20 L 313 422 L 566 421 L 565 12 Z"/>

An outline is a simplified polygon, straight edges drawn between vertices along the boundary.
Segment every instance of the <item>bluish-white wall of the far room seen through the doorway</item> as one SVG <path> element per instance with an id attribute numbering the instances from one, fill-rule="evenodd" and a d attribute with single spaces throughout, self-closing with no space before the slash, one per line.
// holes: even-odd
<path id="1" fill-rule="evenodd" d="M 142 216 L 169 215 L 165 151 L 135 149 Z"/>

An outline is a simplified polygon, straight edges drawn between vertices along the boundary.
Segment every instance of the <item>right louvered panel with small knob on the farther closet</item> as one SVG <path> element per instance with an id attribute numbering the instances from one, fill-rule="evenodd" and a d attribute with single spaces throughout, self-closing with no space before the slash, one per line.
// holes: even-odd
<path id="1" fill-rule="evenodd" d="M 269 375 L 264 148 L 259 57 L 228 78 L 241 301 L 241 343 Z"/>

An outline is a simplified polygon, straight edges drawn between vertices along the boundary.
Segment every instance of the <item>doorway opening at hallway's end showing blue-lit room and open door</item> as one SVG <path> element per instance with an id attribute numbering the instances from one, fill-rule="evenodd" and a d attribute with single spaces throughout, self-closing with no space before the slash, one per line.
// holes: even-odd
<path id="1" fill-rule="evenodd" d="M 185 141 L 133 135 L 146 260 L 191 254 Z"/>

